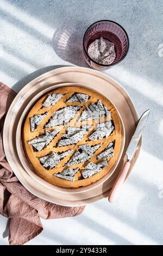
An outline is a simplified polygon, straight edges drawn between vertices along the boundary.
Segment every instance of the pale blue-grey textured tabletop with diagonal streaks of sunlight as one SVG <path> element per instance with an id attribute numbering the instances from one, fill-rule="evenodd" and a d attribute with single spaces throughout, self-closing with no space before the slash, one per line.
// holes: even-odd
<path id="1" fill-rule="evenodd" d="M 109 19 L 128 32 L 126 59 L 104 71 L 127 89 L 137 111 L 151 109 L 143 150 L 115 204 L 106 199 L 81 216 L 43 221 L 30 245 L 163 243 L 163 2 L 161 0 L 1 0 L 0 80 L 17 92 L 29 78 L 58 65 L 86 66 L 82 38 L 91 23 Z M 60 39 L 62 36 L 62 40 Z M 66 36 L 66 47 L 58 47 Z M 45 68 L 46 66 L 52 66 Z M 24 78 L 31 72 L 44 68 Z M 19 80 L 23 80 L 18 82 Z M 0 244 L 7 220 L 0 217 Z"/>

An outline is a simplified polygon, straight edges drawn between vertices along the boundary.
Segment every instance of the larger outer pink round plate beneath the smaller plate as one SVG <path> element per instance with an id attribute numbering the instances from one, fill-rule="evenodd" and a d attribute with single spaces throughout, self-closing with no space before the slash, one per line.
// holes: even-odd
<path id="1" fill-rule="evenodd" d="M 100 186 L 94 188 L 93 190 L 78 194 L 63 194 L 47 187 L 46 189 L 42 189 L 42 185 L 34 180 L 26 172 L 26 170 L 24 170 L 16 150 L 16 129 L 18 120 L 20 119 L 21 114 L 29 101 L 32 100 L 37 93 L 41 92 L 42 89 L 45 89 L 52 84 L 65 82 L 87 84 L 87 86 L 90 86 L 93 89 L 100 90 L 101 93 L 105 94 L 110 99 L 114 99 L 114 105 L 120 112 L 126 133 L 123 156 L 115 172 Z M 116 176 L 122 167 L 125 151 L 131 136 L 134 133 L 138 119 L 139 116 L 135 106 L 126 90 L 124 90 L 119 83 L 109 76 L 87 68 L 66 67 L 55 69 L 35 78 L 33 81 L 28 83 L 25 87 L 23 87 L 20 93 L 17 94 L 14 101 L 11 103 L 5 119 L 3 130 L 3 145 L 5 155 L 18 180 L 20 180 L 22 185 L 26 187 L 28 191 L 35 194 L 35 196 L 60 205 L 77 206 L 89 204 L 108 196 L 109 190 L 114 184 Z M 141 141 L 139 142 L 135 156 L 131 161 L 129 173 L 131 172 L 131 169 L 139 156 L 140 149 Z"/>

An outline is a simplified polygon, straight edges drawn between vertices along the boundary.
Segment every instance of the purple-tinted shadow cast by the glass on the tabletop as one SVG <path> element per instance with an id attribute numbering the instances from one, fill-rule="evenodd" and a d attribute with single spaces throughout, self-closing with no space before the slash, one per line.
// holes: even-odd
<path id="1" fill-rule="evenodd" d="M 66 62 L 87 67 L 83 56 L 83 36 L 86 28 L 87 25 L 82 22 L 77 23 L 74 27 L 58 28 L 52 39 L 55 53 Z"/>

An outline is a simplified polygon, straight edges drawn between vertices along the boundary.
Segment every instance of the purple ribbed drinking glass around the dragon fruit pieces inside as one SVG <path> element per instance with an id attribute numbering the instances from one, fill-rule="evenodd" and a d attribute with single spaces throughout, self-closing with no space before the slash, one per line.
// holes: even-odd
<path id="1" fill-rule="evenodd" d="M 87 53 L 89 45 L 101 36 L 115 44 L 116 58 L 109 65 L 95 62 Z M 83 49 L 85 61 L 91 68 L 107 69 L 120 63 L 126 57 L 129 49 L 129 38 L 124 28 L 118 23 L 109 20 L 97 21 L 87 28 L 83 38 Z"/>

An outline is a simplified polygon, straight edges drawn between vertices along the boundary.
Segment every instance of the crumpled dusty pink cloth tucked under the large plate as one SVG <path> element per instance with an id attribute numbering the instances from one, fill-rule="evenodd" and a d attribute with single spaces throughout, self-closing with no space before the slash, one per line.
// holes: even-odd
<path id="1" fill-rule="evenodd" d="M 9 243 L 23 245 L 43 230 L 44 219 L 77 216 L 85 206 L 67 207 L 35 197 L 24 188 L 12 172 L 3 150 L 2 133 L 5 115 L 16 93 L 0 83 L 0 214 L 10 218 Z"/>

